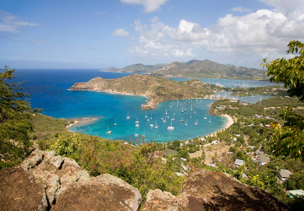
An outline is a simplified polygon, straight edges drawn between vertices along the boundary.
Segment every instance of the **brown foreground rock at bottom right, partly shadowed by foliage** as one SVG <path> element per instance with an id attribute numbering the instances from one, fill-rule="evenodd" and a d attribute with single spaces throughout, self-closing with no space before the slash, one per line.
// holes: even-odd
<path id="1" fill-rule="evenodd" d="M 288 210 L 267 191 L 240 183 L 232 176 L 194 170 L 175 197 L 161 190 L 149 191 L 142 206 L 148 210 Z"/>

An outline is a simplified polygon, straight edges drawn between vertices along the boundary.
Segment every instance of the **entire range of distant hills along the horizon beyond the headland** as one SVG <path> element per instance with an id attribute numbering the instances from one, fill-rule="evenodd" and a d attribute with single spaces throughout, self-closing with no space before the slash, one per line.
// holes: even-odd
<path id="1" fill-rule="evenodd" d="M 122 73 L 148 73 L 165 77 L 192 77 L 192 78 L 220 78 L 220 79 L 246 79 L 268 80 L 266 70 L 238 67 L 235 65 L 220 64 L 205 59 L 190 60 L 188 62 L 173 62 L 171 64 L 143 65 L 133 64 L 122 69 L 110 67 L 109 72 Z"/>

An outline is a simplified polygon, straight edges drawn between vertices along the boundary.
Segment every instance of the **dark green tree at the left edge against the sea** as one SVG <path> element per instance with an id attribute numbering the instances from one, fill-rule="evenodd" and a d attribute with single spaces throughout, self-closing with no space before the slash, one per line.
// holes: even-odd
<path id="1" fill-rule="evenodd" d="M 0 169 L 20 162 L 31 146 L 29 133 L 33 131 L 33 114 L 39 109 L 31 109 L 28 94 L 19 83 L 10 83 L 15 69 L 5 66 L 0 73 Z"/>

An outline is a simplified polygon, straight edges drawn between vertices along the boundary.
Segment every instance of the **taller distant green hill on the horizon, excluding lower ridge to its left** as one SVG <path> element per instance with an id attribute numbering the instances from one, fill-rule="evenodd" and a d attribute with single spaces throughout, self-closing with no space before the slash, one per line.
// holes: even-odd
<path id="1" fill-rule="evenodd" d="M 203 61 L 191 60 L 186 63 L 173 62 L 159 70 L 151 72 L 151 75 L 262 80 L 267 78 L 265 72 L 265 70 L 219 64 L 205 59 Z"/>

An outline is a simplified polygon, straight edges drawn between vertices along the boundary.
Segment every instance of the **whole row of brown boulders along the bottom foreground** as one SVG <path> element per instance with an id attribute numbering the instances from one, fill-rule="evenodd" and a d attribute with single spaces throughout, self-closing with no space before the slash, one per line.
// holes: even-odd
<path id="1" fill-rule="evenodd" d="M 35 150 L 14 168 L 0 171 L 2 210 L 138 210 L 141 194 L 123 180 L 90 177 L 74 160 Z M 182 193 L 150 190 L 141 210 L 288 210 L 270 193 L 230 175 L 193 170 Z"/>

